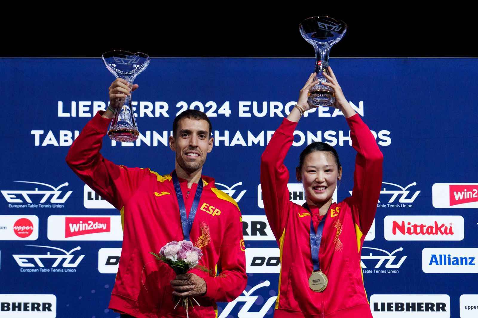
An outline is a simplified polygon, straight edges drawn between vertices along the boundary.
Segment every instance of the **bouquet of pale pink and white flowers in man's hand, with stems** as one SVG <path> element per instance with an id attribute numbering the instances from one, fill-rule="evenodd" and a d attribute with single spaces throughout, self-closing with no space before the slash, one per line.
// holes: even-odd
<path id="1" fill-rule="evenodd" d="M 194 246 L 191 241 L 172 241 L 164 245 L 159 251 L 159 254 L 153 252 L 150 253 L 154 255 L 157 260 L 169 265 L 176 275 L 182 275 L 189 272 L 189 270 L 198 265 L 199 260 L 203 256 L 201 250 Z M 176 301 L 177 298 L 178 297 L 174 297 L 174 301 Z M 201 306 L 194 297 L 186 296 L 179 297 L 174 309 L 180 302 L 182 302 L 183 307 L 186 309 L 186 316 L 189 318 L 187 310 L 189 304 L 194 307 L 193 300 L 196 302 L 197 306 Z"/>

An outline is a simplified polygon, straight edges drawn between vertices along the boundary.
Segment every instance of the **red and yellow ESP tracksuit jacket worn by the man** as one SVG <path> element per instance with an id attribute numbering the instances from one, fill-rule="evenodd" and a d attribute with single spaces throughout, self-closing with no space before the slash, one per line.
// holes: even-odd
<path id="1" fill-rule="evenodd" d="M 171 241 L 184 239 L 179 206 L 171 174 L 150 169 L 116 165 L 99 153 L 110 119 L 98 112 L 68 151 L 66 162 L 75 173 L 121 213 L 123 245 L 109 308 L 137 318 L 186 317 L 181 306 L 174 308 L 170 280 L 174 271 L 154 262 L 149 252 L 158 253 Z M 208 272 L 191 272 L 206 281 L 204 297 L 195 297 L 201 307 L 189 310 L 191 318 L 217 317 L 216 301 L 238 297 L 247 283 L 242 220 L 237 203 L 214 186 L 214 179 L 202 176 L 204 184 L 191 241 L 201 248 Z M 185 181 L 181 182 L 185 195 Z M 187 211 L 196 187 L 185 198 Z M 141 275 L 141 271 L 143 270 Z M 217 268 L 221 269 L 218 273 Z M 142 277 L 141 277 L 142 276 Z M 144 285 L 143 285 L 144 284 Z"/>

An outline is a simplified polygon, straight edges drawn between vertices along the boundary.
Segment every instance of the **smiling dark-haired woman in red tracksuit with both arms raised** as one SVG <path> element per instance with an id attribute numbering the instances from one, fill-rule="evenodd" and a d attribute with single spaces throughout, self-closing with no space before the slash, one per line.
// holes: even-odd
<path id="1" fill-rule="evenodd" d="M 350 107 L 332 69 L 324 74 L 336 105 L 350 127 L 357 150 L 352 196 L 332 202 L 342 167 L 337 152 L 315 142 L 302 151 L 297 180 L 304 206 L 289 201 L 289 171 L 283 164 L 293 131 L 307 103 L 315 73 L 300 91 L 297 106 L 284 118 L 261 157 L 264 208 L 280 248 L 281 273 L 274 317 L 371 318 L 363 284 L 360 250 L 372 225 L 382 182 L 383 156 L 375 138 Z M 322 235 L 323 233 L 323 235 Z"/>

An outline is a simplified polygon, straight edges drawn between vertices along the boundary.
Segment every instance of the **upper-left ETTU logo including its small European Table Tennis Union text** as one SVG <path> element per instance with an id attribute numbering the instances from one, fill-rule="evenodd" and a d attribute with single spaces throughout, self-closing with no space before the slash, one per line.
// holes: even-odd
<path id="1" fill-rule="evenodd" d="M 38 203 L 44 203 L 46 200 L 50 198 L 50 195 L 52 195 L 50 202 L 51 203 L 65 203 L 65 201 L 68 199 L 70 196 L 71 192 L 73 191 L 68 191 L 66 194 L 63 196 L 63 198 L 58 199 L 58 197 L 61 195 L 62 191 L 59 191 L 60 188 L 63 188 L 68 185 L 68 182 L 65 182 L 63 184 L 60 184 L 58 187 L 54 187 L 52 185 L 46 184 L 46 183 L 41 183 L 41 182 L 32 182 L 32 181 L 13 181 L 13 182 L 21 182 L 21 183 L 33 183 L 33 184 L 39 184 L 43 185 L 45 187 L 51 188 L 52 190 L 38 190 L 38 188 L 35 188 L 35 190 L 2 190 L 1 193 L 3 194 L 3 197 L 7 202 L 10 203 L 24 203 L 22 199 L 19 199 L 17 197 L 18 194 L 21 194 L 23 197 L 23 200 L 25 200 L 27 203 L 33 203 L 32 199 L 30 196 L 33 195 L 43 195 L 42 199 Z M 30 196 L 29 196 L 30 195 Z M 9 204 L 9 207 L 14 207 L 14 208 L 63 208 L 64 205 L 62 204 Z"/>

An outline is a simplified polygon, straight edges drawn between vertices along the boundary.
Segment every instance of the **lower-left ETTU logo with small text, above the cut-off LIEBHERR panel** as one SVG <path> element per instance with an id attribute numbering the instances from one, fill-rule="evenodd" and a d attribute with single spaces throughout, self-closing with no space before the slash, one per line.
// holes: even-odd
<path id="1" fill-rule="evenodd" d="M 64 254 L 50 254 L 50 252 L 48 252 L 47 254 L 13 254 L 12 256 L 17 262 L 17 264 L 20 267 L 22 267 L 20 269 L 21 272 L 76 272 L 75 267 L 78 266 L 78 264 L 80 264 L 83 257 L 85 257 L 85 255 L 79 255 L 76 258 L 76 261 L 74 263 L 72 262 L 73 257 L 75 257 L 75 255 L 73 255 L 72 253 L 77 250 L 80 250 L 81 247 L 79 246 L 75 247 L 69 252 L 66 252 L 65 250 L 61 248 L 53 247 L 53 246 L 43 246 L 43 245 L 26 245 L 26 246 L 50 248 L 53 250 L 61 251 Z M 54 260 L 53 264 L 51 263 L 50 260 Z M 45 265 L 43 265 L 43 262 L 49 265 L 50 268 L 45 268 Z M 56 267 L 58 267 L 58 265 L 60 265 L 63 268 L 57 269 Z M 36 266 L 40 267 L 40 269 L 31 268 Z M 29 268 L 23 268 L 23 267 L 29 267 Z"/>

